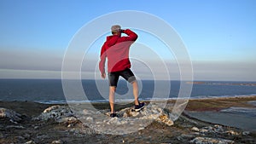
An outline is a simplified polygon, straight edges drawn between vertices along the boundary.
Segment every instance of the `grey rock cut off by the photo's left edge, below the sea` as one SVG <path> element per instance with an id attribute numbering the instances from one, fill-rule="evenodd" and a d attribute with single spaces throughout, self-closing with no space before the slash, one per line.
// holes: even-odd
<path id="1" fill-rule="evenodd" d="M 22 120 L 20 113 L 3 107 L 0 107 L 0 118 L 9 118 L 9 121 L 15 124 Z"/>

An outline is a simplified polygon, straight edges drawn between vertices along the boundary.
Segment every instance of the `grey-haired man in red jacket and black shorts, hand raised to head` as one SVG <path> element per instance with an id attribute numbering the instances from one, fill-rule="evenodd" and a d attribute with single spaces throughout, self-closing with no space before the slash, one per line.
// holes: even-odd
<path id="1" fill-rule="evenodd" d="M 102 45 L 101 60 L 99 69 L 102 78 L 106 78 L 105 61 L 108 58 L 108 81 L 109 81 L 109 104 L 111 108 L 110 117 L 116 117 L 114 111 L 114 93 L 119 81 L 119 76 L 125 78 L 132 84 L 133 95 L 135 99 L 135 111 L 143 109 L 145 103 L 138 101 L 137 80 L 131 72 L 131 62 L 129 60 L 129 49 L 132 43 L 137 40 L 137 34 L 130 29 L 122 30 L 121 26 L 114 25 L 111 27 L 112 36 L 108 36 L 106 42 Z M 121 37 L 125 33 L 126 37 Z"/>

